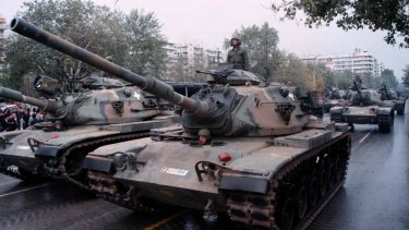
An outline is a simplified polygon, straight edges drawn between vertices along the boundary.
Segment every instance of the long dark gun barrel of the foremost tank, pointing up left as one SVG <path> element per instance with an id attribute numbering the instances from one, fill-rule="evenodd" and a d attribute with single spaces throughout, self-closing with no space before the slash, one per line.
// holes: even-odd
<path id="1" fill-rule="evenodd" d="M 81 60 L 127 82 L 133 83 L 141 89 L 156 95 L 159 98 L 168 100 L 175 105 L 179 105 L 191 114 L 206 117 L 208 113 L 208 106 L 206 102 L 184 97 L 183 95 L 176 93 L 171 86 L 161 81 L 158 81 L 154 77 L 144 77 L 137 75 L 130 70 L 127 70 L 72 43 L 69 43 L 56 35 L 38 28 L 37 26 L 25 22 L 22 19 L 13 19 L 11 21 L 10 27 L 11 31 L 20 35 L 34 39 L 45 46 L 71 56 L 74 59 Z"/>

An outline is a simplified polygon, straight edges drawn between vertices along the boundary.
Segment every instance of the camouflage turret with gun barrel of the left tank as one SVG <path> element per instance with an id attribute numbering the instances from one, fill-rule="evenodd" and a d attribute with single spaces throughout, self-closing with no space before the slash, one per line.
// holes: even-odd
<path id="1" fill-rule="evenodd" d="M 47 120 L 63 125 L 135 122 L 160 112 L 157 99 L 137 87 L 92 90 L 61 100 L 38 99 L 0 87 L 0 97 L 36 106 L 47 112 Z"/>

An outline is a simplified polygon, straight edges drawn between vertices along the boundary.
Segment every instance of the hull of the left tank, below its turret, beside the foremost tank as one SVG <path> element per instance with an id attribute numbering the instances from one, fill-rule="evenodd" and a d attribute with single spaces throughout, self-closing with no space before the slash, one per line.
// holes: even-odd
<path id="1" fill-rule="evenodd" d="M 19 173 L 8 170 L 15 166 L 33 175 L 57 179 L 75 177 L 81 172 L 86 154 L 104 144 L 147 136 L 151 129 L 171 125 L 177 116 L 159 116 L 152 121 L 111 125 L 77 125 L 67 130 L 24 130 L 15 135 L 4 133 L 5 148 L 0 149 L 2 172 L 19 179 Z M 71 160 L 71 162 L 70 162 Z M 64 166 L 72 167 L 68 169 Z M 64 171 L 67 170 L 67 171 Z"/>

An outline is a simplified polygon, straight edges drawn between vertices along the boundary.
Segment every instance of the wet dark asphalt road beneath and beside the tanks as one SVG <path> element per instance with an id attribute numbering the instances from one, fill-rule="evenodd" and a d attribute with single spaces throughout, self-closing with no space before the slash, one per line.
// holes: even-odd
<path id="1" fill-rule="evenodd" d="M 344 189 L 311 229 L 409 229 L 409 111 L 390 134 L 356 125 Z M 0 174 L 0 229 L 237 229 L 220 217 L 176 210 L 141 215 L 55 181 L 28 184 Z"/>

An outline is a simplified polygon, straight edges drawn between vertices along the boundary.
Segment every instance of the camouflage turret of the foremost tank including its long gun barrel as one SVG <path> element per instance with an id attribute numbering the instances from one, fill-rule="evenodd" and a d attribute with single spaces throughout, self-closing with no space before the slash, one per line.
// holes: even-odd
<path id="1" fill-rule="evenodd" d="M 213 83 L 234 87 L 210 85 L 188 98 L 161 81 L 137 75 L 21 19 L 11 22 L 11 29 L 182 107 L 183 128 L 190 134 L 197 134 L 200 129 L 227 136 L 296 133 L 306 124 L 313 107 L 305 106 L 308 100 L 302 96 L 305 93 L 296 94 L 280 85 L 254 86 L 260 83 L 254 74 L 232 69 L 210 75 Z"/>

